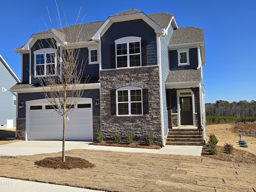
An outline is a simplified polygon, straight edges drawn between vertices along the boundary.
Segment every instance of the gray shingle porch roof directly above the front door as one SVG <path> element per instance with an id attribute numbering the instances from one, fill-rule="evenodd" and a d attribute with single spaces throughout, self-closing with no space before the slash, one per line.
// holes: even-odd
<path id="1" fill-rule="evenodd" d="M 166 79 L 166 83 L 201 81 L 201 69 L 172 70 Z"/>

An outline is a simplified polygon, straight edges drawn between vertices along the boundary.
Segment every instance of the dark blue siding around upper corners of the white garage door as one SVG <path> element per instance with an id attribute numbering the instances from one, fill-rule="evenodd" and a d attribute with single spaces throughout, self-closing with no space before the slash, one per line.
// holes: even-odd
<path id="1" fill-rule="evenodd" d="M 92 98 L 92 115 L 100 116 L 100 107 L 95 106 L 96 99 L 100 99 L 100 90 L 99 89 L 84 90 L 84 94 L 82 97 Z M 43 92 L 19 93 L 18 102 L 23 102 L 24 108 L 22 110 L 18 110 L 18 118 L 26 118 L 26 101 L 44 99 L 44 98 L 45 97 Z"/>

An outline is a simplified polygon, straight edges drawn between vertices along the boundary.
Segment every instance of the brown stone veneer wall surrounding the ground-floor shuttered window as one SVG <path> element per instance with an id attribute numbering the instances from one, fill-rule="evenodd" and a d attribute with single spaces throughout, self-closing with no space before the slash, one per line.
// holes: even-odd
<path id="1" fill-rule="evenodd" d="M 143 116 L 116 116 L 110 113 L 110 90 L 125 86 L 148 89 L 149 114 Z M 136 141 L 143 141 L 148 134 L 162 145 L 160 117 L 159 67 L 148 66 L 100 71 L 101 130 L 106 140 L 120 134 L 132 134 Z"/>

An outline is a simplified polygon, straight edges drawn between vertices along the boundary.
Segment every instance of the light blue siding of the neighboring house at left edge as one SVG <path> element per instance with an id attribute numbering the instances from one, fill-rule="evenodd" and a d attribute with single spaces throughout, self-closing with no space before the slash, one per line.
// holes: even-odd
<path id="1" fill-rule="evenodd" d="M 13 95 L 9 90 L 17 82 L 1 61 L 0 72 L 0 125 L 6 125 L 8 119 L 13 119 L 15 127 L 16 106 L 13 105 Z M 6 91 L 2 91 L 2 88 L 6 88 Z"/>

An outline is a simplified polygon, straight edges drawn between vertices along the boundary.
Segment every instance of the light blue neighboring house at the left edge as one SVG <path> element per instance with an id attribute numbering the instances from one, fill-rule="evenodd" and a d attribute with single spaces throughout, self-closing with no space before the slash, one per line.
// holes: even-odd
<path id="1" fill-rule="evenodd" d="M 0 55 L 0 128 L 16 126 L 16 94 L 10 88 L 20 80 Z"/>

